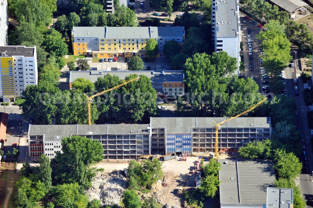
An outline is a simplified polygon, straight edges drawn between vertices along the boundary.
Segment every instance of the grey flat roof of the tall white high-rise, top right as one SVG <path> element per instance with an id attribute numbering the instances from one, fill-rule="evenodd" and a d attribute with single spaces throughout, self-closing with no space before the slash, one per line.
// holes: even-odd
<path id="1" fill-rule="evenodd" d="M 223 37 L 237 37 L 238 21 L 240 19 L 237 17 L 237 0 L 223 0 L 215 2 L 215 26 L 218 27 L 216 31 L 217 38 Z M 214 10 L 212 10 L 214 11 Z M 239 11 L 237 11 L 239 12 Z"/>

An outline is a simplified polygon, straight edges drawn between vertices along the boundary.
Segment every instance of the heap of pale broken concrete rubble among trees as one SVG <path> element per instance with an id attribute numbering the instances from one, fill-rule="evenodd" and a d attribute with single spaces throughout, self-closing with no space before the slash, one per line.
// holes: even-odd
<path id="1" fill-rule="evenodd" d="M 98 173 L 92 182 L 92 187 L 86 193 L 89 200 L 98 199 L 101 205 L 118 205 L 123 198 L 126 185 L 126 177 L 122 171 Z"/>

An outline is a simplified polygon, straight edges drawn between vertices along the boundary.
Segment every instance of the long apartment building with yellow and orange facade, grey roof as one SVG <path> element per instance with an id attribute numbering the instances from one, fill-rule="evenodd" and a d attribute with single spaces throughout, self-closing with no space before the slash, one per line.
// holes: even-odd
<path id="1" fill-rule="evenodd" d="M 185 27 L 73 27 L 73 54 L 94 58 L 120 55 L 144 58 L 146 43 L 152 38 L 158 43 L 157 57 L 164 57 L 163 47 L 167 41 L 184 43 Z"/>

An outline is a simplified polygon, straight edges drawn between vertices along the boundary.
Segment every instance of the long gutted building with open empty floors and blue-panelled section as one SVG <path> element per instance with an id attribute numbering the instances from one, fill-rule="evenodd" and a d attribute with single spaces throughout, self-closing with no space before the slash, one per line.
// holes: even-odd
<path id="1" fill-rule="evenodd" d="M 215 123 L 226 117 L 151 118 L 150 124 L 29 125 L 31 160 L 54 158 L 61 140 L 73 135 L 101 142 L 106 159 L 136 159 L 150 154 L 192 154 L 214 151 Z M 213 122 L 214 121 L 214 122 Z M 238 149 L 271 137 L 269 117 L 236 118 L 219 130 L 219 148 Z"/>

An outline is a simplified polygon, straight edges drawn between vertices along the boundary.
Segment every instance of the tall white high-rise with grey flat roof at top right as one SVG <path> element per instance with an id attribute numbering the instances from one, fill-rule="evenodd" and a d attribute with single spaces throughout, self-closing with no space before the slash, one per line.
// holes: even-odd
<path id="1" fill-rule="evenodd" d="M 212 1 L 212 43 L 214 51 L 225 51 L 237 58 L 237 71 L 240 66 L 240 16 L 239 0 Z"/>

